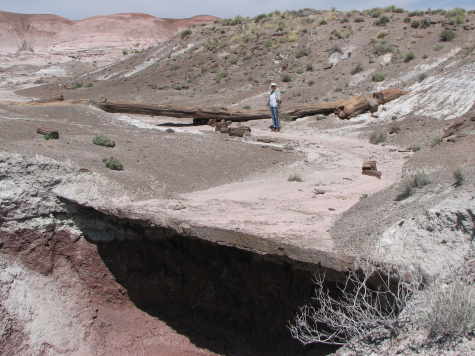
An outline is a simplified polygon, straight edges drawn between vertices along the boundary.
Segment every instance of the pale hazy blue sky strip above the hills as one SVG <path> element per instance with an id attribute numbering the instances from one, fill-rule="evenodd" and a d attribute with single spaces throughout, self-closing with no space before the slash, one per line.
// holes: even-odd
<path id="1" fill-rule="evenodd" d="M 475 0 L 0 0 L 0 10 L 53 13 L 70 19 L 119 12 L 145 12 L 159 17 L 255 16 L 273 10 L 302 8 L 366 9 L 397 5 L 405 9 L 464 7 L 475 9 Z"/>

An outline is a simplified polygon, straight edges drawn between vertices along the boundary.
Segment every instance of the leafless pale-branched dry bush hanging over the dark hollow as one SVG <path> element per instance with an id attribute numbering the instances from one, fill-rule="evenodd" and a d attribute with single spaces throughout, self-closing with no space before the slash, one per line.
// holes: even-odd
<path id="1" fill-rule="evenodd" d="M 369 262 L 332 289 L 325 275 L 317 275 L 313 303 L 300 308 L 289 325 L 290 333 L 305 345 L 344 345 L 377 327 L 396 329 L 399 313 L 421 285 L 416 274 L 407 280 Z"/>

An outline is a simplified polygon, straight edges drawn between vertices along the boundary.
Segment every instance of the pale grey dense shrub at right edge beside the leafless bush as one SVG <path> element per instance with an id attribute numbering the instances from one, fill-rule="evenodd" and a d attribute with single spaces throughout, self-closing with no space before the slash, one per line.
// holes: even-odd
<path id="1" fill-rule="evenodd" d="M 432 338 L 453 337 L 473 332 L 475 328 L 475 290 L 463 281 L 449 284 L 440 281 L 425 291 L 426 310 L 422 324 Z"/>

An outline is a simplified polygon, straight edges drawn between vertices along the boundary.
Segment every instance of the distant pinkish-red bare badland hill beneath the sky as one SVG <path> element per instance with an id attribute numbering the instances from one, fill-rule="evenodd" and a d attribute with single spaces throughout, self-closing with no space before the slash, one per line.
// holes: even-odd
<path id="1" fill-rule="evenodd" d="M 0 54 L 93 54 L 140 51 L 173 37 L 193 24 L 214 21 L 212 16 L 162 19 L 139 13 L 95 16 L 71 21 L 56 15 L 0 12 Z M 96 52 L 94 52 L 96 51 Z M 84 58 L 82 58 L 84 59 Z"/>

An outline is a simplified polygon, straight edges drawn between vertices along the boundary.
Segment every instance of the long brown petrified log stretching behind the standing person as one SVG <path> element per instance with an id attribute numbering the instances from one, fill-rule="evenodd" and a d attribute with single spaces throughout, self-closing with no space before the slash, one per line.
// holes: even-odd
<path id="1" fill-rule="evenodd" d="M 287 116 L 291 120 L 319 114 L 329 115 L 332 113 L 336 113 L 341 119 L 349 119 L 364 112 L 375 111 L 379 105 L 397 99 L 407 93 L 407 91 L 400 89 L 386 89 L 369 96 L 354 96 L 346 100 L 301 105 L 287 110 L 282 109 L 281 114 Z M 205 124 L 209 120 L 243 122 L 270 119 L 271 117 L 270 112 L 267 110 L 244 112 L 227 108 L 205 109 L 171 105 L 146 105 L 137 103 L 94 101 L 91 103 L 97 108 L 110 113 L 187 118 L 193 119 L 193 122 L 196 124 Z"/>

